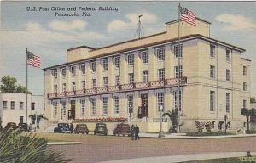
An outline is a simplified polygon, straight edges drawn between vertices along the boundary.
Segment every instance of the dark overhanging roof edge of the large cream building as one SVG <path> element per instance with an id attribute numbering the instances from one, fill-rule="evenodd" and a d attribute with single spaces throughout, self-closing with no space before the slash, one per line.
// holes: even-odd
<path id="1" fill-rule="evenodd" d="M 150 35 L 148 37 L 154 37 L 156 35 L 160 35 L 160 34 L 164 34 L 166 32 L 161 32 L 161 33 L 158 33 L 158 34 L 154 34 L 154 35 Z M 143 37 L 145 38 L 145 37 Z M 141 39 L 143 39 L 141 38 Z M 200 34 L 192 34 L 192 35 L 187 35 L 187 36 L 183 36 L 183 37 L 180 37 L 180 41 L 183 42 L 183 41 L 188 41 L 188 40 L 193 40 L 193 39 L 202 39 L 202 40 L 206 40 L 206 41 L 209 41 L 209 42 L 215 42 L 215 43 L 218 43 L 218 44 L 222 44 L 224 46 L 227 46 L 229 48 L 233 48 L 233 49 L 236 49 L 237 51 L 239 52 L 245 52 L 246 50 L 243 49 L 243 48 L 239 48 L 239 47 L 236 47 L 234 45 L 231 45 L 229 43 L 226 43 L 226 42 L 222 42 L 222 41 L 219 41 L 217 39 L 213 39 L 211 37 L 205 37 L 205 36 L 202 36 Z M 127 42 L 133 42 L 133 41 L 136 41 L 137 39 L 133 39 L 133 40 L 129 40 Z M 177 42 L 178 41 L 178 37 L 176 38 L 172 38 L 172 39 L 166 39 L 166 40 L 163 40 L 163 41 L 160 41 L 160 42 L 153 42 L 153 43 L 148 43 L 148 44 L 144 44 L 144 45 L 141 45 L 141 46 L 137 46 L 137 47 L 133 47 L 133 48 L 123 48 L 122 50 L 119 50 L 119 51 L 113 51 L 111 53 L 104 53 L 104 54 L 101 54 L 101 55 L 97 55 L 97 56 L 94 56 L 94 57 L 90 57 L 90 58 L 87 58 L 87 59 L 80 59 L 80 60 L 76 60 L 76 61 L 73 61 L 73 62 L 67 62 L 67 63 L 64 63 L 64 64 L 61 64 L 61 65 L 54 65 L 54 66 L 50 66 L 50 67 L 47 67 L 47 68 L 44 68 L 42 70 L 51 70 L 51 69 L 55 69 L 56 67 L 61 67 L 61 66 L 64 66 L 64 65 L 73 65 L 75 63 L 79 63 L 79 62 L 83 62 L 83 61 L 87 61 L 87 60 L 92 60 L 92 59 L 97 59 L 97 58 L 102 58 L 102 57 L 107 57 L 109 55 L 113 55 L 113 54 L 118 54 L 118 53 L 125 53 L 127 51 L 132 51 L 132 50 L 135 50 L 135 49 L 143 49 L 143 48 L 149 48 L 149 47 L 153 47 L 155 45 L 159 45 L 159 44 L 166 44 L 166 43 L 169 43 L 169 42 Z M 102 47 L 102 48 L 109 48 L 109 47 L 113 47 L 113 46 L 116 46 L 116 45 L 119 45 L 119 44 L 124 44 L 126 42 L 120 42 L 120 43 L 117 43 L 117 44 L 113 44 L 113 45 L 109 45 L 108 47 Z M 86 47 L 86 46 L 85 46 Z M 78 48 L 78 47 L 77 47 Z M 92 51 L 96 51 L 96 50 L 99 50 L 99 49 L 102 49 L 102 48 L 96 48 Z"/>

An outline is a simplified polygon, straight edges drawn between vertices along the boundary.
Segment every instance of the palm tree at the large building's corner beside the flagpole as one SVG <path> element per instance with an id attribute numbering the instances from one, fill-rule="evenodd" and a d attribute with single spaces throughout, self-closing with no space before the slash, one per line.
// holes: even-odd
<path id="1" fill-rule="evenodd" d="M 183 115 L 178 115 L 178 110 L 177 109 L 174 110 L 173 108 L 172 108 L 172 110 L 168 110 L 162 116 L 166 116 L 166 115 L 169 116 L 170 120 L 172 121 L 172 130 L 170 128 L 171 133 L 177 133 L 178 126 L 183 125 L 183 123 L 178 124 L 177 118 L 179 116 L 183 116 Z"/>

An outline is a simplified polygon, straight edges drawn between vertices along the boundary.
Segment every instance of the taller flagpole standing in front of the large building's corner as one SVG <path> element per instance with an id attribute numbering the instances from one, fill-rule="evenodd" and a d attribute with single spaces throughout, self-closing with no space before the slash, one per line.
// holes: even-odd
<path id="1" fill-rule="evenodd" d="M 177 130 L 180 131 L 179 126 L 179 115 L 180 115 L 180 80 L 181 80 L 181 69 L 180 69 L 180 57 L 181 57 L 181 47 L 180 47 L 180 3 L 178 3 L 178 30 L 177 30 L 177 37 L 178 37 L 178 58 L 177 58 L 177 69 L 178 69 L 178 82 L 177 82 Z"/>

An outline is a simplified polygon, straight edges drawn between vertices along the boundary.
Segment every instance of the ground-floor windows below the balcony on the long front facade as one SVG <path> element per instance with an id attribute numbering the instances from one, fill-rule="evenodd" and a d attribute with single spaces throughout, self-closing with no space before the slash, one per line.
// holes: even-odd
<path id="1" fill-rule="evenodd" d="M 179 95 L 178 95 L 179 94 Z M 178 99 L 179 97 L 179 99 Z M 179 110 L 181 109 L 181 92 L 178 93 L 177 91 L 174 92 L 174 108 Z M 133 95 L 127 95 L 127 109 L 128 113 L 133 113 L 134 108 L 134 98 Z M 157 108 L 160 109 L 160 106 L 164 107 L 164 93 L 157 93 L 156 94 L 156 100 L 157 100 Z M 113 97 L 113 110 L 115 115 L 119 115 L 120 113 L 120 98 L 119 96 Z M 71 100 L 72 104 L 75 104 L 74 100 Z M 75 108 L 75 106 L 71 106 Z M 54 108 L 54 115 L 57 115 L 57 102 L 53 103 Z M 158 110 L 160 111 L 160 110 Z M 164 110 L 163 110 L 164 111 Z M 85 115 L 85 99 L 80 100 L 80 113 L 81 115 Z M 66 102 L 61 101 L 61 118 L 62 116 L 67 115 L 67 108 L 66 108 Z M 96 115 L 96 98 L 90 98 L 90 115 Z M 108 98 L 102 97 L 102 115 L 108 115 Z"/>

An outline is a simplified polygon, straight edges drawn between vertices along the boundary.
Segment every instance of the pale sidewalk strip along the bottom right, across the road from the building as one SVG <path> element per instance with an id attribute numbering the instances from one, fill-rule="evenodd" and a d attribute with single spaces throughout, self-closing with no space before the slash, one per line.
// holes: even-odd
<path id="1" fill-rule="evenodd" d="M 252 155 L 256 155 L 256 152 L 251 152 Z M 193 154 L 193 155 L 172 155 L 161 157 L 144 157 L 129 160 L 111 160 L 103 161 L 102 163 L 172 163 L 172 162 L 184 162 L 191 160 L 209 160 L 218 158 L 229 157 L 242 157 L 246 156 L 247 152 L 226 152 L 226 153 L 212 153 L 212 154 Z"/>

